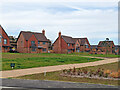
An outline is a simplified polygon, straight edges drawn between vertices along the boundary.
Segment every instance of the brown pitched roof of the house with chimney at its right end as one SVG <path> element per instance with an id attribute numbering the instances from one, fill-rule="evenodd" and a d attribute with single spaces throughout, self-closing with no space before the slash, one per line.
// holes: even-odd
<path id="1" fill-rule="evenodd" d="M 23 34 L 25 40 L 29 40 L 29 38 L 34 34 L 38 41 L 48 41 L 46 36 L 43 35 L 42 33 L 30 32 L 30 31 L 21 31 L 21 33 Z"/>

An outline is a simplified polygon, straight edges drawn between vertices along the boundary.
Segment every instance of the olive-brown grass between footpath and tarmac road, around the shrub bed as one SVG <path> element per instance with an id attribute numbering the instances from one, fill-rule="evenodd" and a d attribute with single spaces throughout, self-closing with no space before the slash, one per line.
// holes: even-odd
<path id="1" fill-rule="evenodd" d="M 94 67 L 85 67 L 87 69 L 97 70 L 99 68 L 110 69 L 117 71 L 118 70 L 118 63 L 111 63 L 111 64 L 104 64 L 98 65 Z M 55 81 L 70 81 L 70 82 L 80 82 L 80 83 L 95 83 L 95 84 L 105 84 L 105 85 L 120 85 L 120 80 L 103 80 L 103 79 L 90 79 L 90 78 L 75 78 L 75 77 L 62 77 L 60 73 L 62 71 L 57 72 L 48 72 L 46 76 L 44 73 L 41 74 L 32 74 L 32 75 L 25 75 L 21 77 L 16 77 L 17 79 L 32 79 L 32 80 L 55 80 Z"/>

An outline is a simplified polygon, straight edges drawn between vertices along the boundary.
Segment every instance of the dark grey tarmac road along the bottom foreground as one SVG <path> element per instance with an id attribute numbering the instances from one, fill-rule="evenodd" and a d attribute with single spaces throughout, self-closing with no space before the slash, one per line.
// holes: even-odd
<path id="1" fill-rule="evenodd" d="M 21 89 L 44 89 L 44 88 L 118 88 L 117 86 L 75 83 L 63 81 L 48 81 L 48 80 L 24 80 L 24 79 L 2 79 L 2 87 L 21 88 Z"/>

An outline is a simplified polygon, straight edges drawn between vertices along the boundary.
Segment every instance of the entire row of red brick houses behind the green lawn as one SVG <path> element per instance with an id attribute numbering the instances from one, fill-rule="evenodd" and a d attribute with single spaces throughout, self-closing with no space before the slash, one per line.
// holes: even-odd
<path id="1" fill-rule="evenodd" d="M 73 38 L 61 35 L 51 44 L 50 39 L 42 33 L 21 31 L 18 38 L 8 36 L 0 25 L 0 51 L 19 53 L 73 53 L 88 52 L 90 54 L 119 54 L 120 46 L 114 45 L 113 41 L 100 41 L 98 45 L 90 45 L 87 38 Z"/>

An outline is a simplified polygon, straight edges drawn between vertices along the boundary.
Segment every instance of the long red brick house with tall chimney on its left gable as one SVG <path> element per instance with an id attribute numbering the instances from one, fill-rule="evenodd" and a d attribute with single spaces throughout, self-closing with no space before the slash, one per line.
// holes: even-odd
<path id="1" fill-rule="evenodd" d="M 72 53 L 72 52 L 89 52 L 90 44 L 87 38 L 72 38 L 61 35 L 53 43 L 54 53 Z"/>

